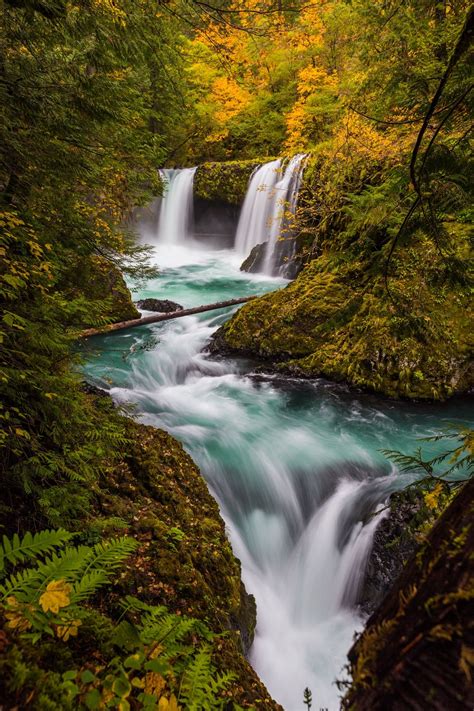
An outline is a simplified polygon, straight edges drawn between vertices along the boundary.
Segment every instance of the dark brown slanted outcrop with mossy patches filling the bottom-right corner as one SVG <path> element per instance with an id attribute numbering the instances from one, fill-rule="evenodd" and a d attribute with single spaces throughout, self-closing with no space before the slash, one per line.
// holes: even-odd
<path id="1" fill-rule="evenodd" d="M 405 566 L 349 652 L 345 711 L 474 707 L 474 479 Z"/>

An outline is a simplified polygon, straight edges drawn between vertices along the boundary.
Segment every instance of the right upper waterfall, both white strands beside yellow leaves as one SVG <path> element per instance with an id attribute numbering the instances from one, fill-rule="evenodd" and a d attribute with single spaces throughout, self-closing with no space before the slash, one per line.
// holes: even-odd
<path id="1" fill-rule="evenodd" d="M 293 156 L 284 170 L 280 159 L 265 163 L 249 182 L 235 250 L 246 257 L 253 247 L 266 243 L 261 271 L 269 276 L 275 271 L 277 242 L 285 230 L 291 230 L 305 158 L 305 154 Z"/>

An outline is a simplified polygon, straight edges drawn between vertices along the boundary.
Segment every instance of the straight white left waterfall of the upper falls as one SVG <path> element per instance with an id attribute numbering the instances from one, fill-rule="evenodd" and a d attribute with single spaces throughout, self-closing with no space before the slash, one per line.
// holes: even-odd
<path id="1" fill-rule="evenodd" d="M 165 192 L 161 202 L 157 241 L 183 244 L 193 233 L 193 182 L 196 168 L 163 168 Z"/>

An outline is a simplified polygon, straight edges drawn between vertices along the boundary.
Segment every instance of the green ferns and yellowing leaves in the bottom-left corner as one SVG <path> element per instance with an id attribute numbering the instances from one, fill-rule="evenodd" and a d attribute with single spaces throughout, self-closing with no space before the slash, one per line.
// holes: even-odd
<path id="1" fill-rule="evenodd" d="M 110 585 L 112 574 L 137 542 L 122 537 L 93 547 L 71 547 L 65 545 L 70 537 L 64 531 L 43 531 L 35 536 L 28 533 L 22 541 L 4 538 L 7 561 L 16 564 L 15 570 L 4 571 L 0 585 L 4 634 L 12 635 L 16 645 L 2 661 L 4 670 L 7 667 L 8 694 L 22 698 L 30 693 L 31 684 L 35 686 L 46 635 L 55 637 L 59 645 L 72 645 L 59 667 L 49 669 L 46 664 L 41 669 L 47 689 L 45 704 L 47 698 L 51 708 L 64 703 L 65 708 L 126 709 L 134 703 L 135 708 L 152 709 L 159 703 L 160 709 L 177 711 L 178 703 L 183 703 L 196 711 L 222 709 L 225 697 L 221 694 L 234 675 L 216 673 L 210 648 L 214 636 L 202 622 L 171 614 L 162 606 L 125 597 L 121 619 L 106 632 L 108 646 L 104 640 L 95 641 L 104 651 L 109 649 L 108 656 L 98 655 L 99 661 L 92 663 L 81 656 L 72 640 L 91 627 L 91 621 L 93 634 L 106 630 L 100 623 L 103 615 L 91 617 L 90 602 L 89 606 L 85 602 Z M 52 548 L 61 550 L 51 553 Z M 36 564 L 25 566 L 32 557 Z M 21 660 L 33 654 L 31 645 L 39 645 L 39 657 L 37 653 L 31 671 L 23 673 Z M 68 668 L 71 662 L 77 668 Z M 56 679 L 54 686 L 49 683 L 51 677 Z M 33 693 L 38 690 L 34 688 Z"/>

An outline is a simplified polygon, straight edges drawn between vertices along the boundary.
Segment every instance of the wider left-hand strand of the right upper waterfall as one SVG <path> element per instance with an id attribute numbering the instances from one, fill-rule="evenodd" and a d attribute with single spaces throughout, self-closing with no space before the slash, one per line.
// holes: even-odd
<path id="1" fill-rule="evenodd" d="M 235 236 L 235 250 L 243 258 L 268 240 L 280 169 L 281 160 L 272 160 L 257 168 L 250 178 Z"/>

